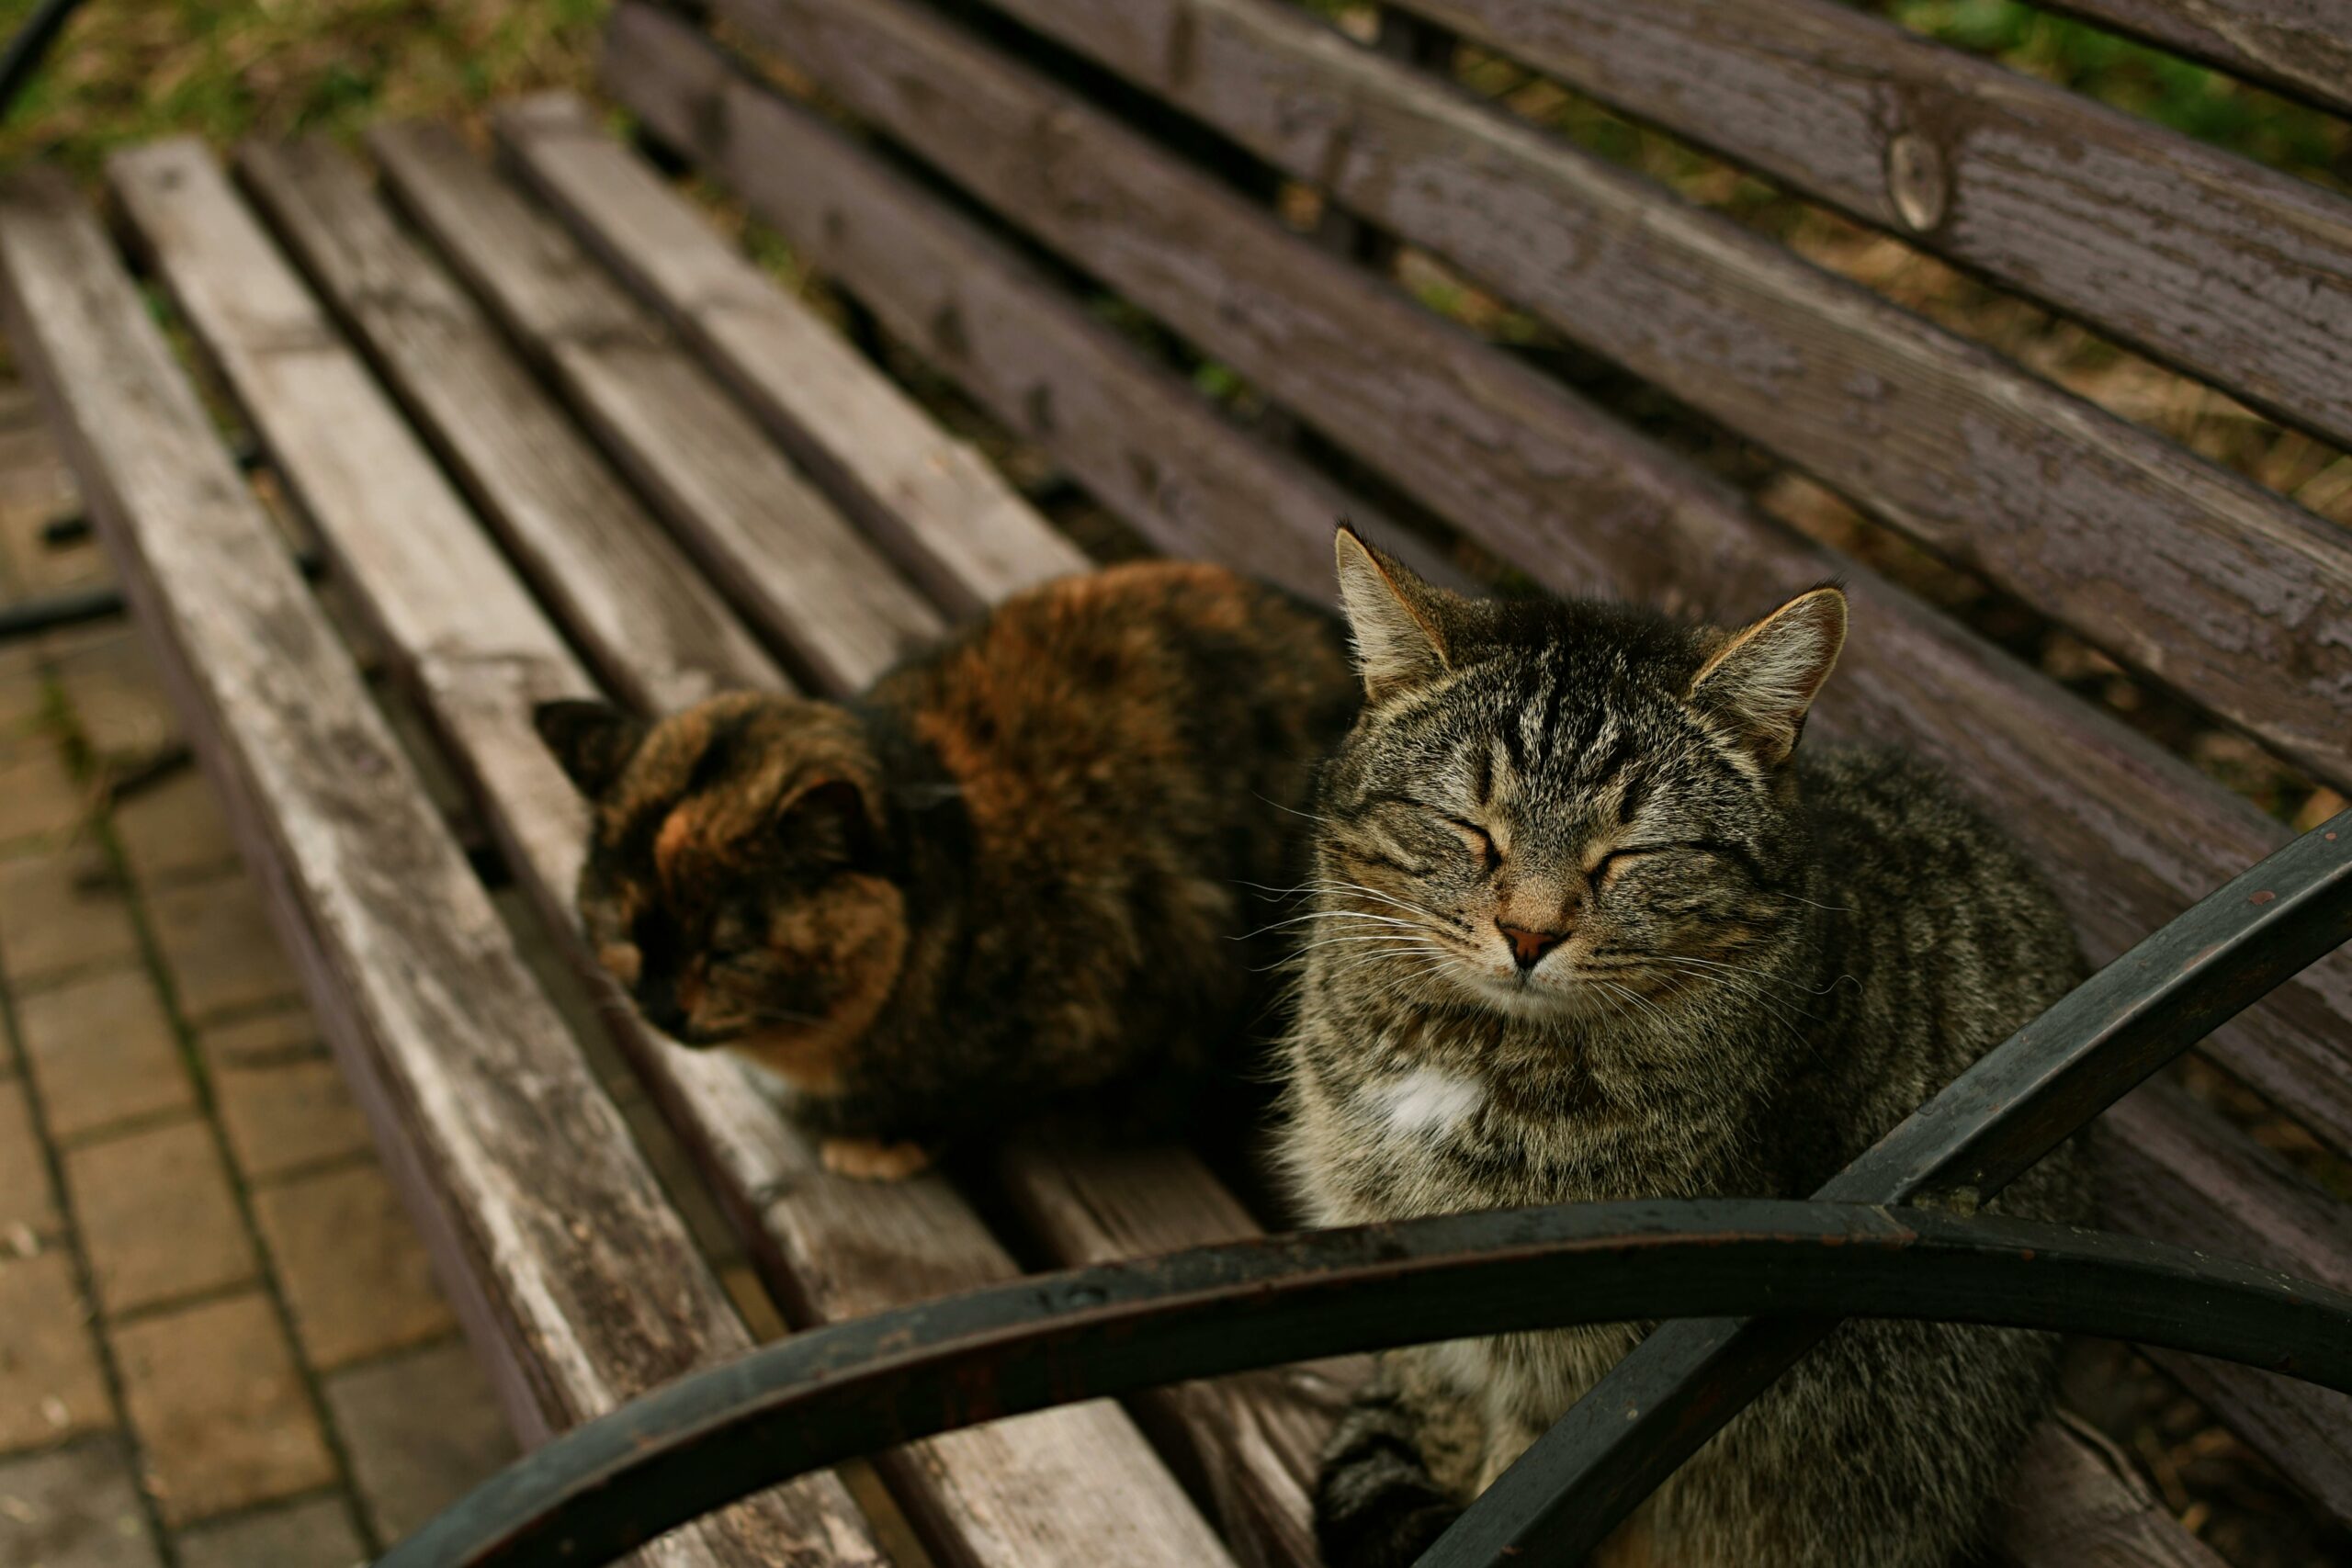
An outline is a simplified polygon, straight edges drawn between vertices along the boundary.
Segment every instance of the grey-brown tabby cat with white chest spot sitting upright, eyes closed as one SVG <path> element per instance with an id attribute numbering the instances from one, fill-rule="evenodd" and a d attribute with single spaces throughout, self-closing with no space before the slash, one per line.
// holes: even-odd
<path id="1" fill-rule="evenodd" d="M 1804 1197 L 2082 978 L 1936 771 L 1795 755 L 1837 588 L 1740 632 L 1482 602 L 1350 534 L 1367 708 L 1319 783 L 1284 1154 L 1324 1225 Z M 1999 1208 L 2084 1222 L 2060 1150 Z M 1644 1326 L 1392 1352 L 1324 1455 L 1331 1568 L 1411 1563 Z M 1846 1324 L 1599 1563 L 1945 1568 L 2053 1396 L 2049 1335 Z"/>

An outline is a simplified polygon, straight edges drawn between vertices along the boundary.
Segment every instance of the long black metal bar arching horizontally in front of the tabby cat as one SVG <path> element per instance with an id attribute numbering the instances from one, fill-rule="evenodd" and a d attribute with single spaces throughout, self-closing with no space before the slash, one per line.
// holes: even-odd
<path id="1" fill-rule="evenodd" d="M 971 1422 L 1668 1312 L 2117 1333 L 2352 1392 L 2352 1295 L 2187 1248 L 1860 1204 L 1517 1208 L 1042 1274 L 802 1333 L 555 1439 L 379 1568 L 583 1568 L 807 1469 Z"/>

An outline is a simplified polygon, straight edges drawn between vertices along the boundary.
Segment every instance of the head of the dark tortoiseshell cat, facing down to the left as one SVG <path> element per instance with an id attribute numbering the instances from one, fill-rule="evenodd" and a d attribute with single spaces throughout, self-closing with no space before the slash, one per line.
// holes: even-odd
<path id="1" fill-rule="evenodd" d="M 534 722 L 595 806 L 579 912 L 604 971 L 661 1032 L 828 1088 L 906 957 L 856 719 L 731 693 L 652 726 L 586 701 Z"/>

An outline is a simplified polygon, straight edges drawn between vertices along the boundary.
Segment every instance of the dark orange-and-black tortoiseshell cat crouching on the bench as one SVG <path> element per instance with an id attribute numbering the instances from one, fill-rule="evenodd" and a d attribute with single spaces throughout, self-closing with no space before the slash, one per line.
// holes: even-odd
<path id="1" fill-rule="evenodd" d="M 1082 1091 L 1181 1093 L 1265 1004 L 1359 705 L 1334 616 L 1207 564 L 1016 595 L 851 703 L 536 724 L 595 804 L 579 912 L 644 1018 L 894 1178 Z"/>

